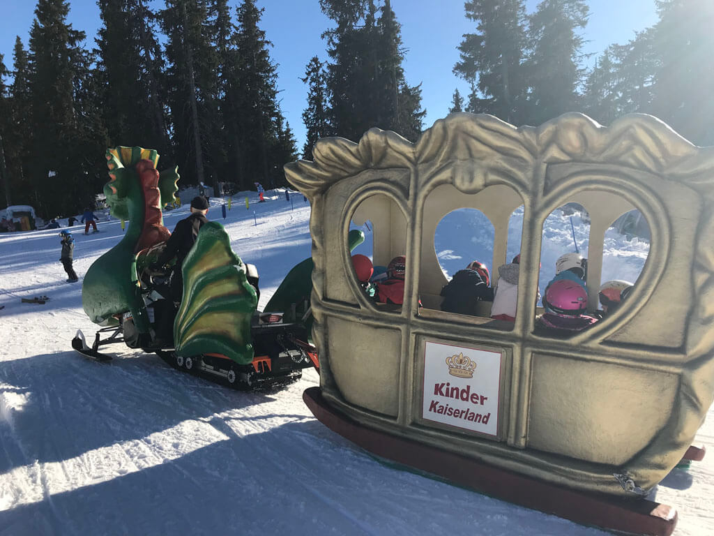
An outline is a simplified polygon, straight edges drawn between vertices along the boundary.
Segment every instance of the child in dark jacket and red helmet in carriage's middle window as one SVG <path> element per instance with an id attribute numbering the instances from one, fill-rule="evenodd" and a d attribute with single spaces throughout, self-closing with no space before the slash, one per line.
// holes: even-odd
<path id="1" fill-rule="evenodd" d="M 441 289 L 441 310 L 478 316 L 478 301 L 493 301 L 493 289 L 488 286 L 491 282 L 490 276 L 486 264 L 478 261 L 473 261 L 466 269 L 456 272 L 451 281 Z"/>

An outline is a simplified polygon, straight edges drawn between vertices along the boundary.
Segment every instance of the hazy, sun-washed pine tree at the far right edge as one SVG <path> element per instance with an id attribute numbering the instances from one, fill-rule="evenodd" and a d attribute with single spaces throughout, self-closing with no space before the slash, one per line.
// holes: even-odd
<path id="1" fill-rule="evenodd" d="M 697 144 L 714 144 L 714 64 L 711 60 L 714 3 L 658 0 L 660 20 L 653 47 L 653 108 L 661 119 Z"/>

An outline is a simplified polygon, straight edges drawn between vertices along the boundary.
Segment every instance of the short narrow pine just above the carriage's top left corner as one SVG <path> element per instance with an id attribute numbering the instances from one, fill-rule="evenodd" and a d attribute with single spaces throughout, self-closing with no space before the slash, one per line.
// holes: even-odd
<path id="1" fill-rule="evenodd" d="M 305 78 L 308 84 L 308 106 L 303 110 L 303 122 L 307 129 L 303 158 L 310 159 L 313 147 L 318 139 L 331 134 L 328 118 L 327 74 L 324 64 L 313 56 L 305 68 Z"/>

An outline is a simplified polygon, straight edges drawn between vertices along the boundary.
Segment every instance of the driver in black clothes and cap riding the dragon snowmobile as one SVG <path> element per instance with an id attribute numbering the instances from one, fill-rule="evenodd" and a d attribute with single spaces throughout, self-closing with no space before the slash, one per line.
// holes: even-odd
<path id="1" fill-rule="evenodd" d="M 176 259 L 176 264 L 171 273 L 171 297 L 174 302 L 181 302 L 181 294 L 183 294 L 183 274 L 181 266 L 186 255 L 191 251 L 193 244 L 196 243 L 198 230 L 208 223 L 206 219 L 208 212 L 208 202 L 203 196 L 196 196 L 191 201 L 191 214 L 182 219 L 176 224 L 174 232 L 166 241 L 166 248 L 161 253 L 159 259 L 151 265 L 152 268 L 158 268 Z"/>

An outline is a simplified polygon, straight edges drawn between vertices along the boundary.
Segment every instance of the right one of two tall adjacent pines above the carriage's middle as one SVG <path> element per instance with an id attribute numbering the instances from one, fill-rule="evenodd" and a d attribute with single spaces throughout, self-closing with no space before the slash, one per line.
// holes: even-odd
<path id="1" fill-rule="evenodd" d="M 540 124 L 580 108 L 578 87 L 585 71 L 578 30 L 587 24 L 588 5 L 584 0 L 543 0 L 528 21 L 527 122 Z"/>

